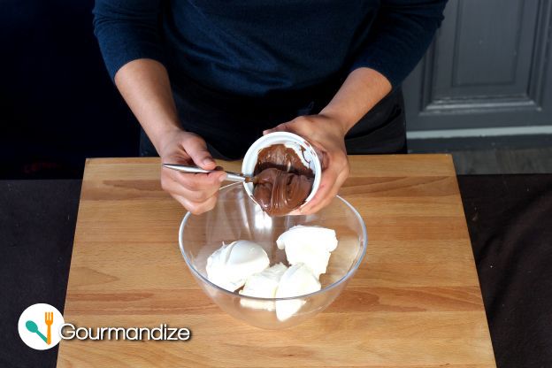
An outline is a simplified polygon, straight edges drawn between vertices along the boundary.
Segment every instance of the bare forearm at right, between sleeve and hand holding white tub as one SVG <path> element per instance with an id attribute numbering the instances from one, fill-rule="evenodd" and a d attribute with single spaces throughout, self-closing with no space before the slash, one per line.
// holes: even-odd
<path id="1" fill-rule="evenodd" d="M 391 91 L 386 77 L 369 68 L 349 73 L 334 98 L 320 111 L 341 124 L 342 134 L 357 124 L 372 107 Z"/>

